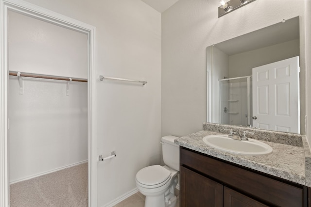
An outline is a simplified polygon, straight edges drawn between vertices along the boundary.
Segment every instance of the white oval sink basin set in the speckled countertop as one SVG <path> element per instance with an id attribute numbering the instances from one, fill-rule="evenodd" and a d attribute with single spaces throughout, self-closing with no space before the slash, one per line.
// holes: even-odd
<path id="1" fill-rule="evenodd" d="M 258 140 L 240 141 L 222 134 L 206 136 L 203 142 L 215 149 L 241 155 L 266 155 L 272 152 L 271 146 Z"/>

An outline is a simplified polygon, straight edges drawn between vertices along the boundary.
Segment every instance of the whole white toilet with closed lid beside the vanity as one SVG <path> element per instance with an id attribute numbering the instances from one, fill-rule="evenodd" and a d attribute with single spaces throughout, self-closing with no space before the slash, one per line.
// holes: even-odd
<path id="1" fill-rule="evenodd" d="M 145 167 L 136 174 L 136 186 L 146 196 L 145 207 L 175 207 L 175 187 L 178 183 L 179 146 L 178 137 L 162 137 L 162 154 L 166 165 Z"/>

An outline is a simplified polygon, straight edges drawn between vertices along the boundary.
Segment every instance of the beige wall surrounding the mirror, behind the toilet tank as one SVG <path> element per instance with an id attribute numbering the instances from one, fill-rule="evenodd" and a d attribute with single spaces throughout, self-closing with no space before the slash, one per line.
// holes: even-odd
<path id="1" fill-rule="evenodd" d="M 202 130 L 208 46 L 295 16 L 305 24 L 304 1 L 258 0 L 221 18 L 217 8 L 217 0 L 179 0 L 162 13 L 162 135 Z"/>

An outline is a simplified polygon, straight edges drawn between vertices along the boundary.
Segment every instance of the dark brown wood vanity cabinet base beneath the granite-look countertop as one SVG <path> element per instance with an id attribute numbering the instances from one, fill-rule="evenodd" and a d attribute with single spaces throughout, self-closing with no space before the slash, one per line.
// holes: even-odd
<path id="1" fill-rule="evenodd" d="M 180 207 L 307 207 L 307 201 L 305 186 L 180 148 Z"/>

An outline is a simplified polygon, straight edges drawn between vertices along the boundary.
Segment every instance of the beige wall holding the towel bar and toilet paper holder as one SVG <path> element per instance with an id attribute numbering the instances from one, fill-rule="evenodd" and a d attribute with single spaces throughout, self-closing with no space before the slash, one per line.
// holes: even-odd
<path id="1" fill-rule="evenodd" d="M 139 169 L 161 159 L 161 14 L 141 0 L 27 0 L 97 29 L 97 205 L 136 188 Z M 93 158 L 94 159 L 94 158 Z"/>

